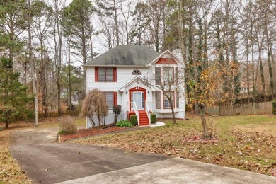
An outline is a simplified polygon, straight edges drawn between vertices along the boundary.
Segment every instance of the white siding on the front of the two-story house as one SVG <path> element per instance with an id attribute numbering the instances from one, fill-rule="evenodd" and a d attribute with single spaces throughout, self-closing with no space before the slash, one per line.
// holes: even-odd
<path id="1" fill-rule="evenodd" d="M 163 54 L 163 58 L 171 57 L 171 54 Z M 149 61 L 150 62 L 150 61 Z M 167 64 L 158 64 L 158 67 L 168 66 Z M 98 88 L 100 91 L 117 91 L 117 104 L 122 105 L 122 113 L 119 116 L 119 120 L 127 119 L 127 111 L 130 110 L 130 88 L 139 87 L 146 89 L 146 100 L 149 103 L 149 109 L 156 113 L 158 118 L 162 117 L 172 117 L 170 109 L 163 109 L 163 95 L 162 95 L 162 109 L 155 109 L 155 93 L 154 91 L 159 91 L 159 89 L 151 88 L 151 86 L 146 86 L 142 81 L 137 83 L 136 80 L 132 81 L 136 77 L 136 75 L 132 75 L 132 71 L 135 69 L 139 69 L 141 71 L 141 75 L 139 75 L 142 79 L 146 77 L 149 79 L 149 82 L 155 84 L 154 81 L 154 65 L 151 67 L 117 67 L 117 82 L 95 82 L 95 68 L 87 67 L 86 69 L 86 83 L 87 83 L 87 91 L 91 91 L 93 88 Z M 183 67 L 183 64 L 171 64 L 171 67 Z M 161 74 L 163 71 L 161 71 Z M 150 80 L 151 79 L 151 80 Z M 130 83 L 130 81 L 132 81 Z M 128 84 L 130 83 L 130 84 Z M 125 86 L 128 84 L 127 86 Z M 180 100 L 179 100 L 179 108 L 176 109 L 176 118 L 185 118 L 185 98 L 184 96 L 184 85 L 180 85 L 182 88 L 179 91 Z M 118 92 L 121 88 L 125 87 L 125 91 Z M 112 110 L 109 110 L 108 117 L 105 117 L 105 124 L 113 123 L 114 114 Z M 91 122 L 87 118 L 87 127 L 91 127 Z"/>

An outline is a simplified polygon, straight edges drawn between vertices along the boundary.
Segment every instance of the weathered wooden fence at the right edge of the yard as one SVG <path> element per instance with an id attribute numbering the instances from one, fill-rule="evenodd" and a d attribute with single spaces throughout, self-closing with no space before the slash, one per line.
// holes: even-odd
<path id="1" fill-rule="evenodd" d="M 272 113 L 272 102 L 240 103 L 231 105 L 221 105 L 207 107 L 205 111 L 208 115 L 264 115 Z"/>

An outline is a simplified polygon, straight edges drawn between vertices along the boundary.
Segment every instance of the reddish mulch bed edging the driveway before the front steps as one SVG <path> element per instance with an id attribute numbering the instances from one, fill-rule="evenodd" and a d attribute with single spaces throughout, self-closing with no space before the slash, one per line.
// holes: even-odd
<path id="1" fill-rule="evenodd" d="M 79 130 L 78 133 L 76 134 L 63 134 L 60 135 L 60 141 L 64 142 L 67 141 L 69 139 L 75 139 L 75 138 L 79 138 L 79 137 L 86 137 L 86 136 L 90 136 L 90 135 L 95 135 L 95 134 L 104 134 L 107 132 L 114 132 L 117 130 L 125 130 L 125 127 L 94 127 L 94 128 L 90 128 L 90 129 L 81 129 Z"/>

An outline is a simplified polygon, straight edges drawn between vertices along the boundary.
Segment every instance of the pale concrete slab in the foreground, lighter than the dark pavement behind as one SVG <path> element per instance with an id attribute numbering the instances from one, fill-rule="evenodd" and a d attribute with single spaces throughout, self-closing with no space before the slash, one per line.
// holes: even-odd
<path id="1" fill-rule="evenodd" d="M 69 183 L 276 183 L 276 178 L 188 159 L 173 158 L 147 163 Z"/>

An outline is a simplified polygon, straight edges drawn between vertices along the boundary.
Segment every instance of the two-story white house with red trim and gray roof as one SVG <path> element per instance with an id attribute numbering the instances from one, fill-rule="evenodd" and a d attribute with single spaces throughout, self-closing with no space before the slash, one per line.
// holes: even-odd
<path id="1" fill-rule="evenodd" d="M 113 123 L 113 105 L 122 106 L 118 120 L 136 113 L 139 125 L 149 125 L 151 112 L 157 118 L 171 118 L 168 99 L 156 85 L 168 76 L 180 76 L 178 72 L 183 68 L 183 62 L 168 50 L 159 53 L 148 47 L 129 45 L 117 46 L 84 64 L 87 91 L 98 88 L 105 94 L 110 109 L 105 125 Z M 185 118 L 183 86 L 183 83 L 173 86 L 176 118 Z M 89 118 L 86 118 L 86 127 L 91 127 Z"/>

